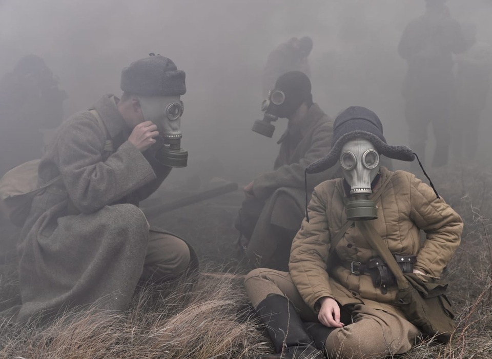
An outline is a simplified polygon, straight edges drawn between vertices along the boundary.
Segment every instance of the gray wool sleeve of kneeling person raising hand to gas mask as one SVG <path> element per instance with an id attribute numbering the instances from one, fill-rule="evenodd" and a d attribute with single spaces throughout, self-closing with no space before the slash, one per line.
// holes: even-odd
<path id="1" fill-rule="evenodd" d="M 152 166 L 130 142 L 103 162 L 105 136 L 92 116 L 81 114 L 58 137 L 58 169 L 75 207 L 92 213 L 156 179 Z"/>

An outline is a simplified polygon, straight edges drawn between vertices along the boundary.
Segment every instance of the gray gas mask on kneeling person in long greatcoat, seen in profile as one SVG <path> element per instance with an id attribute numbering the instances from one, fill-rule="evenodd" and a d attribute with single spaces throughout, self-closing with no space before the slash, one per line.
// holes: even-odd
<path id="1" fill-rule="evenodd" d="M 181 148 L 181 116 L 185 107 L 180 96 L 139 96 L 145 121 L 157 126 L 159 136 L 153 154 L 159 163 L 169 167 L 186 167 L 188 151 Z"/>

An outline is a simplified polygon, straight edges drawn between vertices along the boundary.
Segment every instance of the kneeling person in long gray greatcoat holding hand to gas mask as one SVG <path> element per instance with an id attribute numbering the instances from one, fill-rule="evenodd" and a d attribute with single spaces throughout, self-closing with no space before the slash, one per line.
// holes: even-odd
<path id="1" fill-rule="evenodd" d="M 185 72 L 149 56 L 122 71 L 121 89 L 121 99 L 104 95 L 67 119 L 42 157 L 39 185 L 60 178 L 34 198 L 21 233 L 20 323 L 88 306 L 125 310 L 139 281 L 196 265 L 187 243 L 150 229 L 138 208 L 172 167 L 186 166 Z"/>

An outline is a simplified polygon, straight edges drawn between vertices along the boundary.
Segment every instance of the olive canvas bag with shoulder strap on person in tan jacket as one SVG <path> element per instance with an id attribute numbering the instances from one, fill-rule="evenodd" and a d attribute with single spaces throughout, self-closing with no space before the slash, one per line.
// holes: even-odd
<path id="1" fill-rule="evenodd" d="M 396 277 L 398 293 L 394 305 L 403 311 L 407 320 L 418 327 L 424 336 L 442 344 L 448 343 L 456 325 L 451 303 L 444 294 L 447 283 L 432 277 L 424 280 L 415 273 L 403 273 L 374 227 L 365 221 L 360 221 L 358 225 L 368 234 L 367 241 L 378 251 Z"/>

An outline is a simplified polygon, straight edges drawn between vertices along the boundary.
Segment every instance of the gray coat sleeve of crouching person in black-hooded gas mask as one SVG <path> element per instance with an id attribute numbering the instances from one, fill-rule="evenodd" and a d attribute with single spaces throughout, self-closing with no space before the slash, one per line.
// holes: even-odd
<path id="1" fill-rule="evenodd" d="M 304 188 L 304 170 L 306 166 L 323 157 L 330 151 L 333 138 L 333 126 L 330 123 L 320 126 L 313 136 L 311 148 L 298 163 L 283 165 L 274 171 L 264 173 L 253 181 L 253 192 L 259 199 L 268 198 L 280 187 Z M 313 188 L 328 179 L 326 173 L 308 175 L 308 187 Z"/>

